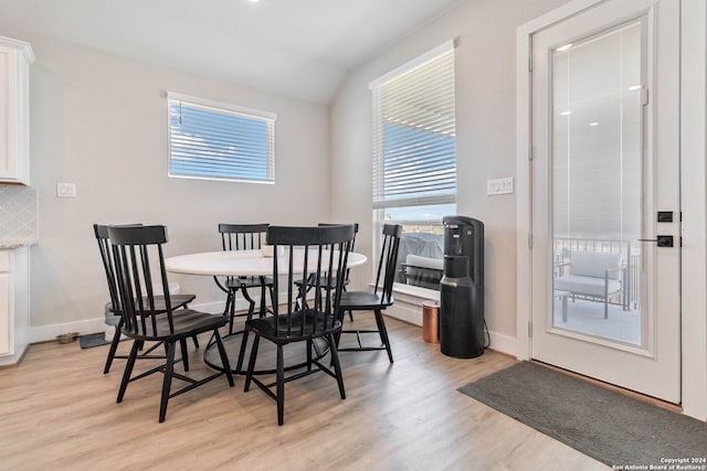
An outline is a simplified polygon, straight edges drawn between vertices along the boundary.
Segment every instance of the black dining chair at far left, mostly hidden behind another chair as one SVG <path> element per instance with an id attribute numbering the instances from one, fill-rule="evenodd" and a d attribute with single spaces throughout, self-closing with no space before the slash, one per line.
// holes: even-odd
<path id="1" fill-rule="evenodd" d="M 143 224 L 126 224 L 120 227 L 141 227 Z M 127 355 L 116 355 L 118 343 L 120 342 L 120 338 L 123 336 L 123 317 L 120 315 L 120 311 L 118 309 L 118 290 L 117 290 L 117 279 L 116 279 L 116 270 L 115 270 L 115 261 L 113 260 L 113 251 L 110 250 L 110 242 L 108 240 L 108 226 L 94 224 L 93 232 L 96 236 L 96 240 L 98 242 L 98 250 L 101 251 L 101 260 L 103 261 L 103 268 L 106 272 L 106 281 L 108 282 L 108 293 L 110 296 L 110 304 L 109 310 L 113 314 L 118 315 L 118 325 L 115 328 L 115 334 L 113 335 L 113 340 L 110 341 L 110 349 L 108 350 L 108 356 L 106 358 L 106 364 L 103 368 L 103 373 L 107 374 L 110 372 L 110 365 L 113 364 L 113 360 L 123 358 L 126 360 Z M 186 308 L 193 299 L 194 295 L 170 295 L 169 299 L 173 309 Z M 155 298 L 156 308 L 158 312 L 163 312 L 166 309 L 165 298 L 161 296 L 157 296 Z M 199 346 L 199 340 L 197 336 L 193 336 L 194 345 Z M 144 353 L 141 353 L 138 358 L 163 358 L 163 355 L 155 356 L 151 353 L 160 346 L 160 343 L 156 343 L 155 345 L 147 349 Z M 182 355 L 187 352 L 187 341 L 184 340 L 181 343 Z M 189 371 L 189 361 L 186 361 L 184 370 Z"/>

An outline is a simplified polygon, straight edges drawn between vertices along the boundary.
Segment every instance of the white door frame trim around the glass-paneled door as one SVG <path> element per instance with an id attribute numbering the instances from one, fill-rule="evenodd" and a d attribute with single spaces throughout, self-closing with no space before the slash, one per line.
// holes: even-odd
<path id="1" fill-rule="evenodd" d="M 532 35 L 609 0 L 572 0 L 517 29 L 516 36 L 516 355 L 530 358 L 532 299 Z M 677 1 L 677 0 L 676 0 Z M 682 250 L 682 406 L 686 415 L 707 420 L 707 8 L 704 0 L 680 3 L 680 200 Z"/>

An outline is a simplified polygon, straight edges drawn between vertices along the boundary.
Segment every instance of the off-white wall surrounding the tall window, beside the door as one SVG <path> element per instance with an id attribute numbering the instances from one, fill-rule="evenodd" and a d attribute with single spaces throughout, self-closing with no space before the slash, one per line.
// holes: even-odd
<path id="1" fill-rule="evenodd" d="M 486 320 L 497 342 L 516 335 L 516 195 L 487 196 L 486 180 L 515 176 L 516 29 L 561 3 L 469 0 L 351 71 L 331 106 L 333 214 L 361 223 L 356 246 L 370 253 L 371 179 L 351 178 L 371 174 L 368 84 L 457 39 L 457 212 L 485 224 Z"/>

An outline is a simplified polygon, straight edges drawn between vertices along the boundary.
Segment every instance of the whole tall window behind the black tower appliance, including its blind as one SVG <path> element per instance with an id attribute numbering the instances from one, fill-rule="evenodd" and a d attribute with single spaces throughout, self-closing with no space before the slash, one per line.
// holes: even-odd
<path id="1" fill-rule="evenodd" d="M 453 41 L 372 82 L 371 90 L 373 225 L 403 226 L 395 281 L 439 291 L 442 217 L 456 214 Z"/>

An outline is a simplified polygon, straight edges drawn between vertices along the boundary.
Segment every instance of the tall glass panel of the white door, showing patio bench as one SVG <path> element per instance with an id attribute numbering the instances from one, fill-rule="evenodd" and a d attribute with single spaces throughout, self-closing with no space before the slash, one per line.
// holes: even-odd
<path id="1" fill-rule="evenodd" d="M 550 53 L 551 325 L 630 345 L 647 325 L 643 38 L 635 20 Z"/>

